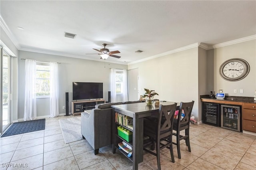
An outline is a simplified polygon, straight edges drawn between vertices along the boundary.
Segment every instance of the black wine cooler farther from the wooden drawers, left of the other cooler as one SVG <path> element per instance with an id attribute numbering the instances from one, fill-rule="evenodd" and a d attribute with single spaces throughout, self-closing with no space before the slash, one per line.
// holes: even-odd
<path id="1" fill-rule="evenodd" d="M 204 123 L 213 126 L 220 126 L 219 104 L 204 103 Z"/>

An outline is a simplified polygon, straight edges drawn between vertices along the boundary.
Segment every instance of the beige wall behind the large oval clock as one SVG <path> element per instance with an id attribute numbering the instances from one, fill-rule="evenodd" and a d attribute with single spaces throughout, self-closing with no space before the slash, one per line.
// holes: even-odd
<path id="1" fill-rule="evenodd" d="M 219 47 L 213 50 L 214 55 L 214 90 L 218 92 L 223 89 L 223 93 L 229 96 L 253 97 L 256 89 L 256 40 Z M 226 81 L 220 74 L 220 65 L 224 61 L 232 58 L 242 58 L 250 65 L 249 74 L 240 81 Z M 234 93 L 237 89 L 238 93 Z M 240 89 L 244 93 L 240 93 Z"/>

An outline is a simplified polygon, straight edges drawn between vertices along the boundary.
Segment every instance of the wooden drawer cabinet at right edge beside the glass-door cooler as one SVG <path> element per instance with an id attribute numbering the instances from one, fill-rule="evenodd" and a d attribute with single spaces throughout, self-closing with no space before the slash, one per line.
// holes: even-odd
<path id="1" fill-rule="evenodd" d="M 256 103 L 243 103 L 243 130 L 256 132 Z"/>

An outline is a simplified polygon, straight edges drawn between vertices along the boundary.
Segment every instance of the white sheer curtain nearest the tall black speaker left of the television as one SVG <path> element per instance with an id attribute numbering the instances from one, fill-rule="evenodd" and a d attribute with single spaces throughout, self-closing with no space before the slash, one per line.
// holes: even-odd
<path id="1" fill-rule="evenodd" d="M 50 62 L 50 117 L 59 115 L 58 63 Z"/>

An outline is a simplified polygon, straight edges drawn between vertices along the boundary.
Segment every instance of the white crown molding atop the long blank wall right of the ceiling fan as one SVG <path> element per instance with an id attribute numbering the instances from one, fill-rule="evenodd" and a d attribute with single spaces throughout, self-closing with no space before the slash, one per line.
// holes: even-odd
<path id="1" fill-rule="evenodd" d="M 128 65 L 135 64 L 135 63 L 140 63 L 142 61 L 147 61 L 147 60 L 158 58 L 158 57 L 162 57 L 164 55 L 168 55 L 168 54 L 172 54 L 172 53 L 177 53 L 177 52 L 184 51 L 186 49 L 191 49 L 191 48 L 194 48 L 194 47 L 198 47 L 198 43 L 193 43 L 191 45 L 187 45 L 187 46 L 184 46 L 184 47 L 173 49 L 171 51 L 167 51 L 167 52 L 164 52 L 164 53 L 152 55 L 150 57 L 146 57 L 144 59 L 140 59 L 140 60 L 137 60 L 137 61 L 132 61 L 132 62 L 129 62 Z"/>

